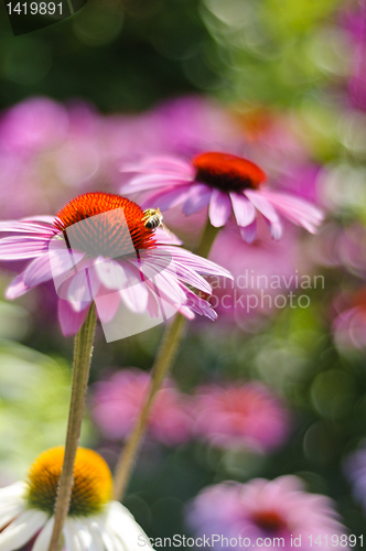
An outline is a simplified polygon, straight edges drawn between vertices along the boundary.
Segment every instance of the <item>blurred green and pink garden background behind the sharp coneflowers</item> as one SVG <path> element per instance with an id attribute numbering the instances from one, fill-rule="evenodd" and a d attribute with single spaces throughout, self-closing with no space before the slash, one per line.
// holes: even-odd
<path id="1" fill-rule="evenodd" d="M 363 533 L 365 67 L 363 0 L 88 0 L 17 37 L 0 6 L 1 218 L 54 214 L 85 191 L 118 193 L 123 163 L 143 155 L 205 150 L 251 159 L 273 188 L 326 213 L 316 236 L 286 225 L 281 241 L 261 228 L 247 245 L 234 225 L 220 231 L 211 258 L 235 281 L 279 277 L 266 292 L 309 301 L 248 313 L 220 298 L 237 291 L 245 303 L 260 289 L 218 288 L 218 321 L 190 324 L 125 501 L 153 538 L 189 533 L 187 504 L 208 485 L 286 474 L 334 499 L 349 533 Z M 186 248 L 204 219 L 164 216 Z M 19 268 L 1 264 L 2 291 Z M 111 467 L 162 332 L 112 344 L 97 333 L 83 444 Z M 7 485 L 64 441 L 73 339 L 50 284 L 1 300 L 0 336 Z"/>

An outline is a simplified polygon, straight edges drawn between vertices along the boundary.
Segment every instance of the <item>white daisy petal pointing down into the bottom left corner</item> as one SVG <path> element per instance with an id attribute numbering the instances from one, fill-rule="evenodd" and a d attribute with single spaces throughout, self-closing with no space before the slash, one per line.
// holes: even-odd
<path id="1" fill-rule="evenodd" d="M 0 551 L 13 551 L 24 545 L 45 525 L 47 515 L 44 511 L 29 509 L 19 515 L 0 533 Z"/>

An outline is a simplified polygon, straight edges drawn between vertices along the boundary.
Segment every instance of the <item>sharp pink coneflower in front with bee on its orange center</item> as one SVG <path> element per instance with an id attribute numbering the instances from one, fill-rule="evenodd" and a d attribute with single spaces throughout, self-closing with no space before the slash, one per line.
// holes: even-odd
<path id="1" fill-rule="evenodd" d="M 162 301 L 189 318 L 196 312 L 215 320 L 209 304 L 186 284 L 209 293 L 201 273 L 230 277 L 214 262 L 173 247 L 179 242 L 173 234 L 147 228 L 139 205 L 119 195 L 79 195 L 55 217 L 3 222 L 0 231 L 15 234 L 0 240 L 0 260 L 32 259 L 8 288 L 7 298 L 62 277 L 58 320 L 65 335 L 77 333 L 94 299 L 104 323 L 115 317 L 120 302 L 137 314 L 157 316 Z"/>

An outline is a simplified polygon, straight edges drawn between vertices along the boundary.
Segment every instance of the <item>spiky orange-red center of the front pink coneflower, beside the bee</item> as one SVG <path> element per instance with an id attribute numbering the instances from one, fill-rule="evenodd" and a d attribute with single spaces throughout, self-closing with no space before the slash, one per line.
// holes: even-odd
<path id="1" fill-rule="evenodd" d="M 99 216 L 98 216 L 99 215 Z M 77 224 L 82 223 L 82 224 Z M 67 246 L 89 257 L 117 258 L 154 246 L 154 230 L 146 227 L 141 207 L 110 193 L 86 193 L 56 214 L 54 225 Z"/>

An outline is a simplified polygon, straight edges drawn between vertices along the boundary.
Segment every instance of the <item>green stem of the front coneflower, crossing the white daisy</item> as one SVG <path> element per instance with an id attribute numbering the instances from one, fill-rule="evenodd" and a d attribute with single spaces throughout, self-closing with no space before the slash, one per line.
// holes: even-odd
<path id="1" fill-rule="evenodd" d="M 54 528 L 49 551 L 58 551 L 74 484 L 74 463 L 80 439 L 84 404 L 89 378 L 97 314 L 93 302 L 83 327 L 75 336 L 72 397 L 68 412 L 65 456 L 54 512 Z"/>

